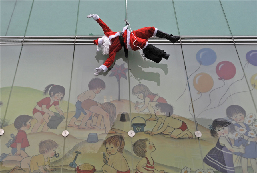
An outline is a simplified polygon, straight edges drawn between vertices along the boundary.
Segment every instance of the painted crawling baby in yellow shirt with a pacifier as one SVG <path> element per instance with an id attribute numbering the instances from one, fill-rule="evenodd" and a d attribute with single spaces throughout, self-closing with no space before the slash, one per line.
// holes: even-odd
<path id="1" fill-rule="evenodd" d="M 56 153 L 56 149 L 59 147 L 59 145 L 51 140 L 45 140 L 41 141 L 39 143 L 39 155 L 32 156 L 32 157 L 26 157 L 21 161 L 21 168 L 25 172 L 31 172 L 31 173 L 49 173 L 53 172 L 56 169 L 51 168 L 50 165 L 50 158 L 53 157 Z M 45 170 L 44 167 L 47 169 Z"/>

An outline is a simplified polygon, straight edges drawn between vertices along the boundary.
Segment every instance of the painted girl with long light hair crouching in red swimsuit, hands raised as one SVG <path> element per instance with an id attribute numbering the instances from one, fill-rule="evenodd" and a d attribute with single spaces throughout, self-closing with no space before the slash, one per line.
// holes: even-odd
<path id="1" fill-rule="evenodd" d="M 154 115 L 154 109 L 152 108 L 157 103 L 167 103 L 166 99 L 163 97 L 158 96 L 158 94 L 152 93 L 149 88 L 143 84 L 138 84 L 133 87 L 132 94 L 136 95 L 137 98 L 144 100 L 143 102 L 137 101 L 134 106 L 134 109 L 137 112 L 142 112 L 146 108 L 151 114 L 151 117 L 146 119 L 147 121 L 155 121 L 157 117 Z M 138 107 L 139 105 L 143 105 L 142 107 Z"/>

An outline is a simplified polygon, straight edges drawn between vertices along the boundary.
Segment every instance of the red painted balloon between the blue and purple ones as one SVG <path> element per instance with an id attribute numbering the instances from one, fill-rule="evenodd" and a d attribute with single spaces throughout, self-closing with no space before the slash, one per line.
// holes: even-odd
<path id="1" fill-rule="evenodd" d="M 216 66 L 216 73 L 220 77 L 219 80 L 228 80 L 235 76 L 236 67 L 230 61 L 222 61 Z"/>

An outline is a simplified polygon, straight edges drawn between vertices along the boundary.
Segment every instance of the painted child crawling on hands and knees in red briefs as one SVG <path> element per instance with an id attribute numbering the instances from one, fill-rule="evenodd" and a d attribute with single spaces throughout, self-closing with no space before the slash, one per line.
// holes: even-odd
<path id="1" fill-rule="evenodd" d="M 152 131 L 145 131 L 144 133 L 156 135 L 162 132 L 175 139 L 183 137 L 184 135 L 188 135 L 188 139 L 193 138 L 193 134 L 188 130 L 184 121 L 169 116 L 173 114 L 172 105 L 168 103 L 159 103 L 156 105 L 154 113 L 159 119 Z M 162 125 L 162 127 L 159 129 L 160 125 Z"/>

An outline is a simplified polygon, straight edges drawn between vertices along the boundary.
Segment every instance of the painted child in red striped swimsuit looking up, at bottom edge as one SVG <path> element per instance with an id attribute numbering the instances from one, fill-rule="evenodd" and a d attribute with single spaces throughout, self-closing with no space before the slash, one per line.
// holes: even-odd
<path id="1" fill-rule="evenodd" d="M 155 151 L 155 146 L 153 143 L 150 143 L 148 139 L 138 139 L 133 144 L 133 151 L 138 157 L 142 157 L 142 159 L 136 165 L 136 173 L 166 173 L 164 170 L 158 171 L 154 169 L 154 161 L 152 159 L 152 152 Z"/>

